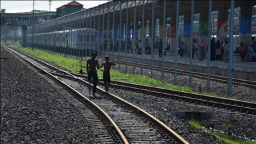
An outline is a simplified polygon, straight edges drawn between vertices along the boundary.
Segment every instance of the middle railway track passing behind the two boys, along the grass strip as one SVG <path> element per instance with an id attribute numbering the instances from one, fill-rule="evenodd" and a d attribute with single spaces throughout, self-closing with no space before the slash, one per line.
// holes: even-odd
<path id="1" fill-rule="evenodd" d="M 25 53 L 24 53 L 25 54 Z M 27 55 L 27 54 L 25 54 Z M 31 57 L 30 55 L 27 55 Z M 43 63 L 43 61 L 40 61 Z M 48 65 L 45 63 L 44 65 Z M 55 71 L 60 71 L 55 67 L 52 67 Z M 86 75 L 81 75 L 79 73 L 67 73 L 63 71 L 65 75 L 75 75 L 76 77 L 87 79 Z M 55 73 L 55 75 L 59 75 Z M 64 76 L 64 75 L 62 75 Z M 61 75 L 59 75 L 61 77 Z M 101 80 L 102 81 L 102 80 Z M 102 83 L 102 82 L 101 82 Z M 118 89 L 127 89 L 129 91 L 137 91 L 139 93 L 149 93 L 151 95 L 159 96 L 159 97 L 167 97 L 171 99 L 179 99 L 181 101 L 189 101 L 191 103 L 199 103 L 202 105 L 213 105 L 215 107 L 225 107 L 226 109 L 231 109 L 235 111 L 240 111 L 243 113 L 251 113 L 253 115 L 256 114 L 256 103 L 249 103 L 246 101 L 237 101 L 233 99 L 225 99 L 220 97 L 211 97 L 207 95 L 200 95 L 196 93 L 187 93 L 184 91 L 176 91 L 172 89 L 162 89 L 158 87 L 149 87 L 146 85 L 135 85 L 132 83 L 124 83 L 120 81 L 111 81 L 111 87 Z M 255 83 L 255 82 L 253 82 Z"/>

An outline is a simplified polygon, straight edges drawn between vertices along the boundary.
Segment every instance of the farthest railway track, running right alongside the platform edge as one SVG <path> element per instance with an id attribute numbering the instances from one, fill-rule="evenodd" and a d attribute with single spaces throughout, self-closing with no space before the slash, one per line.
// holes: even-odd
<path id="1" fill-rule="evenodd" d="M 103 57 L 101 57 L 101 59 L 103 59 Z M 125 61 L 120 60 L 120 63 L 122 65 L 125 65 Z M 127 61 L 126 64 L 130 65 L 130 66 L 133 66 L 133 62 L 131 62 L 131 61 Z M 134 65 L 135 65 L 135 67 L 141 67 L 141 63 L 134 63 Z M 143 64 L 143 69 L 151 69 L 151 65 Z M 161 71 L 162 67 L 152 65 L 152 69 L 154 71 Z M 164 72 L 174 74 L 175 69 L 165 67 Z M 183 71 L 183 70 L 177 69 L 177 75 L 187 75 L 187 76 L 189 76 L 189 71 Z M 206 73 L 192 72 L 192 77 L 207 79 L 207 74 Z M 210 75 L 210 80 L 211 81 L 217 81 L 217 82 L 220 82 L 220 83 L 227 83 L 228 77 L 222 77 L 222 76 L 218 76 L 218 75 Z M 256 89 L 256 81 L 247 81 L 247 80 L 243 80 L 243 79 L 233 78 L 232 79 L 232 84 L 233 85 L 242 85 L 242 86 L 245 86 L 245 87 L 251 87 L 251 88 Z"/>

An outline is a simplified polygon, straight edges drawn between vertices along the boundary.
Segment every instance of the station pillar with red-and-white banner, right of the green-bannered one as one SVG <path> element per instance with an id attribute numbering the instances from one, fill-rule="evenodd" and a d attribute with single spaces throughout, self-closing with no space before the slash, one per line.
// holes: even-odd
<path id="1" fill-rule="evenodd" d="M 219 9 L 218 10 L 216 40 L 219 40 L 220 43 L 224 42 L 225 38 L 227 38 L 228 16 L 229 16 L 229 9 Z"/>

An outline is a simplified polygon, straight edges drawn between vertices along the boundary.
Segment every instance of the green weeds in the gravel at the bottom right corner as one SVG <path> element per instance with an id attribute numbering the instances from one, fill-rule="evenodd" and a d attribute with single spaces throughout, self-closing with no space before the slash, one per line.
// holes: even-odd
<path id="1" fill-rule="evenodd" d="M 202 131 L 207 131 L 207 133 L 214 135 L 218 139 L 223 140 L 227 144 L 255 144 L 254 141 L 250 141 L 248 139 L 239 139 L 238 137 L 233 137 L 231 135 L 223 134 L 223 133 L 216 133 L 213 131 L 209 131 L 209 129 L 204 129 L 203 125 L 199 121 L 196 120 L 190 120 L 189 124 L 197 129 L 201 129 Z M 225 130 L 229 129 L 231 125 L 229 123 L 223 123 L 223 127 L 225 127 Z"/>

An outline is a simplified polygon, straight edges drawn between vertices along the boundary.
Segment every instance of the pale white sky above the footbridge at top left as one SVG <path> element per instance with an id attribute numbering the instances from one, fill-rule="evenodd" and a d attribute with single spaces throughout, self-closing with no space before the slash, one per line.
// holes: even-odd
<path id="1" fill-rule="evenodd" d="M 66 5 L 69 1 L 55 1 L 51 2 L 51 11 L 56 11 L 57 7 Z M 107 3 L 107 1 L 77 1 L 83 5 L 83 8 L 88 9 L 90 7 L 96 7 L 99 4 Z M 33 1 L 2 1 L 1 0 L 1 9 L 6 9 L 5 13 L 17 13 L 17 12 L 30 12 L 33 11 Z M 36 1 L 35 0 L 35 9 L 49 11 L 49 1 Z"/>

